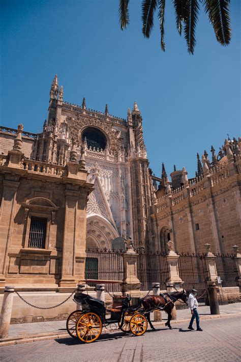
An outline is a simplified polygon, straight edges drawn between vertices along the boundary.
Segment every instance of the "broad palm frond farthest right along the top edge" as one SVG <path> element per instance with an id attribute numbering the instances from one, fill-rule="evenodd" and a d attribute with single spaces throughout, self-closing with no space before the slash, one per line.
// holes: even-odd
<path id="1" fill-rule="evenodd" d="M 205 0 L 205 12 L 212 23 L 218 42 L 228 45 L 231 40 L 229 3 L 230 0 Z"/>

